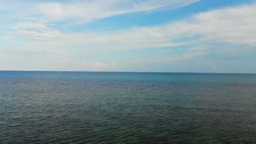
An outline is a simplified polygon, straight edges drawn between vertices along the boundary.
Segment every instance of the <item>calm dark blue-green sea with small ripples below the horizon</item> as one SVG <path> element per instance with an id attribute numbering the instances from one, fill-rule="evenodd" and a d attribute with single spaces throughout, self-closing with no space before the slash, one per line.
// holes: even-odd
<path id="1" fill-rule="evenodd" d="M 256 143 L 256 75 L 0 71 L 0 143 Z"/>

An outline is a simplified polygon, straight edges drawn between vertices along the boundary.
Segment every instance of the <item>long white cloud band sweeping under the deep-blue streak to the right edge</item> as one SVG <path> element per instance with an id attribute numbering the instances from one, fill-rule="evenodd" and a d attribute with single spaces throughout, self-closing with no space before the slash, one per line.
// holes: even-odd
<path id="1" fill-rule="evenodd" d="M 215 42 L 251 44 L 255 43 L 254 37 L 256 37 L 255 15 L 256 3 L 199 13 L 183 21 L 155 27 L 131 27 L 101 33 L 63 34 L 58 31 L 45 31 L 45 33 L 17 31 L 10 33 L 41 40 L 55 40 L 62 37 L 61 43 L 80 43 L 85 47 L 111 50 L 171 47 L 188 44 L 202 45 Z M 47 29 L 45 25 L 27 24 L 27 26 Z M 197 39 L 189 38 L 198 35 L 200 37 Z M 188 38 L 176 43 L 176 38 L 180 37 Z"/>

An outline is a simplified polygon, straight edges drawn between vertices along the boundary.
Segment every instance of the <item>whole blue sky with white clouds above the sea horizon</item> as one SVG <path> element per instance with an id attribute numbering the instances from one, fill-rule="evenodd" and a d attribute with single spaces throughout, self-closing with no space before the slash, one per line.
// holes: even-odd
<path id="1" fill-rule="evenodd" d="M 0 0 L 0 70 L 256 73 L 256 0 Z"/>

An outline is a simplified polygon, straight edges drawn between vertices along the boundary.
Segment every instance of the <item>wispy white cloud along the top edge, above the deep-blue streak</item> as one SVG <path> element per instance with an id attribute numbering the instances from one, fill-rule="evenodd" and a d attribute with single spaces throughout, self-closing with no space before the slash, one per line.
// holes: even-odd
<path id="1" fill-rule="evenodd" d="M 8 0 L 0 1 L 0 10 L 13 13 L 21 20 L 75 21 L 88 23 L 125 13 L 152 11 L 168 6 L 179 8 L 200 0 Z"/>

